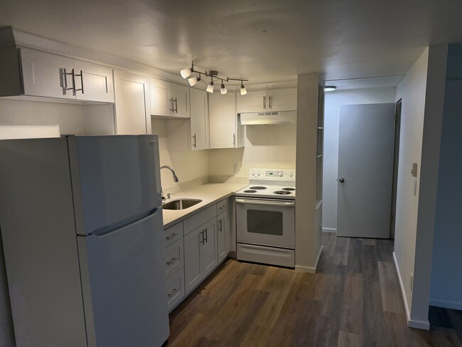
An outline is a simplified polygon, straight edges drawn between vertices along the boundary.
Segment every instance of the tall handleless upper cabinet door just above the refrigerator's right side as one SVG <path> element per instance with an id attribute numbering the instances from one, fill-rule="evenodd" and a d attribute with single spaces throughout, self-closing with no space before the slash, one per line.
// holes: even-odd
<path id="1" fill-rule="evenodd" d="M 114 70 L 117 134 L 151 134 L 149 78 Z"/>

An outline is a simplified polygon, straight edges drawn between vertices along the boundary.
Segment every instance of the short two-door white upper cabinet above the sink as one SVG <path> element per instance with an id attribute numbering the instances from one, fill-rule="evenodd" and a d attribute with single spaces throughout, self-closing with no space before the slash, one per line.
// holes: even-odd
<path id="1" fill-rule="evenodd" d="M 189 87 L 149 78 L 151 115 L 190 117 Z"/>

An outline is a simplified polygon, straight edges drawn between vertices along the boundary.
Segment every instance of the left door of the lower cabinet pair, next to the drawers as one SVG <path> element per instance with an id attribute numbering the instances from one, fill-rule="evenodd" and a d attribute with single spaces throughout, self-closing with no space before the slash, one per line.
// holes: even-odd
<path id="1" fill-rule="evenodd" d="M 200 250 L 203 243 L 203 230 L 199 227 L 184 237 L 186 294 L 193 290 L 202 279 Z"/>

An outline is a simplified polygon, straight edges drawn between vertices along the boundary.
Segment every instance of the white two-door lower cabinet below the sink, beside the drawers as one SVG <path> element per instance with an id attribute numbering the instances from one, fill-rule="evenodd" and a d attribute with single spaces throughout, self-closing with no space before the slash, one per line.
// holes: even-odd
<path id="1" fill-rule="evenodd" d="M 186 294 L 217 266 L 217 220 L 213 218 L 184 237 Z"/>

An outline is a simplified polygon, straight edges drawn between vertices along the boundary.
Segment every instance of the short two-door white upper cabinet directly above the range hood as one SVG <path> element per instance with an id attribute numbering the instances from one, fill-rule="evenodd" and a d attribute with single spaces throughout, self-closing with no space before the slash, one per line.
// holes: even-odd
<path id="1" fill-rule="evenodd" d="M 237 95 L 237 113 L 295 111 L 296 109 L 296 87 L 249 90 L 246 95 Z"/>

